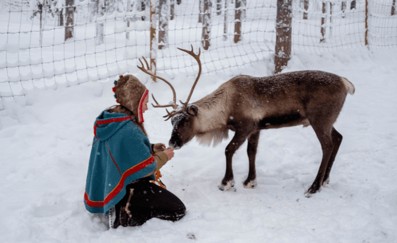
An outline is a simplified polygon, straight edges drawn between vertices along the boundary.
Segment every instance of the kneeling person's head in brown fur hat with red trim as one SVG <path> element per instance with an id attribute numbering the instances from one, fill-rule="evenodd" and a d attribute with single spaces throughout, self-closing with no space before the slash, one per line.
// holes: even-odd
<path id="1" fill-rule="evenodd" d="M 120 75 L 119 80 L 115 81 L 113 88 L 118 103 L 124 106 L 135 115 L 137 122 L 143 122 L 143 113 L 147 111 L 149 91 L 146 87 L 131 74 Z"/>

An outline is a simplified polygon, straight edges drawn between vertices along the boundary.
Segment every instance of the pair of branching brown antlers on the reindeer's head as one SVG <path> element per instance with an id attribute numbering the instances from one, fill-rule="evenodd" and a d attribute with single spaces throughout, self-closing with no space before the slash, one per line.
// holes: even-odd
<path id="1" fill-rule="evenodd" d="M 146 74 L 149 74 L 150 76 L 153 76 L 153 77 L 156 77 L 156 78 L 159 78 L 159 79 L 163 80 L 163 81 L 166 82 L 166 83 L 171 87 L 171 89 L 172 89 L 172 93 L 174 94 L 174 102 L 173 102 L 173 104 L 169 104 L 169 105 L 159 105 L 159 104 L 157 103 L 156 99 L 154 99 L 154 96 L 153 96 L 153 94 L 152 94 L 153 100 L 154 100 L 154 102 L 156 102 L 156 104 L 157 104 L 156 106 L 152 104 L 152 106 L 153 106 L 154 108 L 160 108 L 160 107 L 161 107 L 161 108 L 163 108 L 163 107 L 172 107 L 172 108 L 174 108 L 174 110 L 173 110 L 172 112 L 168 112 L 168 110 L 165 109 L 165 110 L 167 111 L 167 115 L 165 115 L 165 116 L 163 117 L 163 118 L 167 118 L 165 121 L 167 121 L 168 119 L 170 119 L 170 118 L 172 118 L 173 116 L 177 115 L 178 113 L 183 112 L 184 110 L 186 110 L 186 109 L 188 108 L 189 100 L 190 100 L 190 98 L 192 97 L 193 90 L 195 90 L 196 84 L 197 84 L 197 82 L 199 81 L 199 78 L 200 78 L 200 75 L 201 75 L 201 61 L 200 61 L 201 50 L 200 50 L 200 48 L 199 48 L 199 54 L 196 55 L 196 54 L 194 53 L 194 51 L 193 51 L 193 45 L 191 45 L 191 46 L 192 46 L 192 51 L 188 51 L 188 50 L 181 49 L 181 48 L 178 48 L 178 49 L 181 50 L 181 51 L 186 52 L 187 54 L 189 54 L 190 56 L 192 56 L 193 58 L 196 59 L 196 61 L 199 63 L 199 74 L 197 75 L 196 81 L 195 81 L 195 83 L 193 84 L 193 87 L 192 87 L 192 89 L 191 89 L 191 91 L 190 91 L 190 93 L 189 93 L 189 96 L 188 96 L 188 99 L 186 100 L 186 102 L 179 101 L 179 102 L 181 102 L 181 104 L 183 105 L 183 108 L 182 108 L 182 109 L 179 109 L 179 110 L 177 110 L 177 111 L 176 111 L 176 109 L 178 108 L 178 105 L 176 104 L 176 93 L 175 93 L 174 87 L 172 87 L 171 83 L 169 83 L 169 82 L 168 82 L 167 80 L 165 80 L 164 78 L 161 78 L 161 77 L 159 77 L 159 76 L 156 76 L 156 75 L 154 75 L 153 73 L 151 73 L 151 72 L 149 72 L 148 70 L 146 70 L 146 69 L 143 67 L 142 61 L 140 61 L 140 59 L 139 59 L 140 63 L 142 64 L 141 67 L 138 66 L 138 68 L 139 68 L 140 70 L 142 70 L 142 71 L 143 71 L 144 73 L 146 73 Z M 142 57 L 142 58 L 143 58 L 143 57 Z M 146 59 L 143 58 L 143 60 L 144 60 L 145 63 L 146 63 L 147 69 L 150 70 L 149 65 L 148 65 Z"/>

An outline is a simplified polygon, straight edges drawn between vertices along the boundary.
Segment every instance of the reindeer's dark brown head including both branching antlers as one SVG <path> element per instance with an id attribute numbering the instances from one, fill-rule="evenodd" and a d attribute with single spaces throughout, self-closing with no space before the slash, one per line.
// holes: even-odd
<path id="1" fill-rule="evenodd" d="M 201 50 L 199 49 L 199 54 L 196 55 L 193 52 L 193 45 L 191 45 L 191 46 L 192 46 L 192 51 L 187 51 L 187 50 L 178 48 L 179 50 L 184 51 L 184 52 L 188 53 L 189 55 L 191 55 L 192 57 L 194 57 L 196 59 L 196 61 L 199 63 L 199 74 L 197 75 L 196 81 L 193 84 L 193 87 L 189 93 L 188 99 L 186 102 L 180 101 L 182 104 L 182 107 L 178 106 L 176 104 L 176 93 L 175 93 L 175 89 L 171 85 L 171 83 L 168 82 L 167 80 L 165 80 L 164 78 L 161 78 L 161 77 L 156 76 L 153 73 L 149 72 L 148 70 L 150 70 L 150 68 L 149 68 L 149 65 L 145 58 L 142 57 L 143 61 L 145 61 L 145 63 L 146 63 L 147 69 L 144 68 L 143 63 L 140 60 L 139 61 L 142 64 L 142 66 L 141 67 L 138 66 L 138 68 L 140 70 L 142 70 L 143 72 L 145 72 L 146 74 L 149 74 L 150 76 L 153 76 L 153 77 L 163 80 L 165 83 L 167 83 L 171 87 L 172 93 L 174 95 L 173 103 L 169 104 L 169 105 L 159 105 L 152 94 L 153 100 L 156 103 L 156 105 L 152 104 L 152 106 L 154 108 L 172 107 L 174 109 L 171 112 L 168 112 L 168 110 L 166 109 L 167 115 L 165 115 L 163 118 L 167 118 L 165 121 L 172 118 L 171 123 L 172 123 L 173 129 L 172 129 L 171 139 L 169 141 L 169 146 L 174 147 L 175 149 L 181 148 L 185 143 L 189 142 L 196 135 L 193 133 L 192 128 L 193 128 L 193 124 L 194 124 L 194 120 L 195 120 L 194 118 L 197 116 L 199 108 L 195 104 L 189 104 L 189 100 L 192 97 L 193 90 L 195 89 L 196 84 L 199 81 L 200 74 L 201 74 L 201 61 L 200 61 Z M 181 134 L 183 134 L 183 135 L 181 135 Z"/>

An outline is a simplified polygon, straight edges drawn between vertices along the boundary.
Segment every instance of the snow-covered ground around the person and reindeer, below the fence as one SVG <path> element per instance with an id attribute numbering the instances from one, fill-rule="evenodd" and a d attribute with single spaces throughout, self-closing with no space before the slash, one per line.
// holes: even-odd
<path id="1" fill-rule="evenodd" d="M 244 74 L 271 75 L 266 66 L 271 65 L 258 63 Z M 356 88 L 334 124 L 343 141 L 331 182 L 311 198 L 304 192 L 322 157 L 311 127 L 262 131 L 258 186 L 242 185 L 248 173 L 245 143 L 234 156 L 236 191 L 220 191 L 230 131 L 228 141 L 215 148 L 188 143 L 163 167 L 162 181 L 187 207 L 182 220 L 151 219 L 116 230 L 83 203 L 93 122 L 116 104 L 113 82 L 29 91 L 25 100 L 5 102 L 0 111 L 0 242 L 396 243 L 396 67 L 396 49 L 357 48 L 321 56 L 298 53 L 283 70 L 325 70 Z M 147 80 L 142 72 L 132 74 Z M 191 101 L 229 78 L 201 76 Z M 177 98 L 186 99 L 194 77 L 181 72 L 171 81 Z M 160 103 L 171 100 L 165 84 L 150 82 L 146 86 Z M 163 122 L 164 114 L 152 107 L 144 114 L 151 142 L 168 143 L 171 123 Z"/>

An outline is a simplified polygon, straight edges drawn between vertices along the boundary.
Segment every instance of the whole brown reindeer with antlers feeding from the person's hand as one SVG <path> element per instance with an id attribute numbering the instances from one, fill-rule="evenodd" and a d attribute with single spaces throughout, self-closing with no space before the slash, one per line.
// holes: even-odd
<path id="1" fill-rule="evenodd" d="M 169 146 L 180 149 L 193 137 L 200 143 L 215 146 L 228 137 L 228 130 L 235 134 L 226 146 L 226 173 L 219 189 L 228 190 L 234 186 L 232 157 L 236 150 L 248 139 L 249 172 L 243 182 L 244 187 L 257 185 L 255 157 L 262 129 L 288 126 L 311 125 L 316 132 L 323 150 L 319 172 L 313 184 L 305 193 L 310 197 L 320 191 L 321 186 L 330 182 L 330 172 L 342 135 L 333 127 L 347 93 L 354 94 L 354 86 L 346 78 L 324 71 L 295 71 L 268 77 L 239 75 L 223 83 L 211 94 L 189 104 L 193 90 L 201 74 L 199 54 L 184 49 L 199 63 L 199 74 L 186 102 L 176 104 L 176 94 L 172 85 L 165 79 L 149 72 L 143 72 L 166 82 L 172 89 L 174 98 L 169 105 L 159 105 L 154 99 L 155 108 L 172 107 L 164 118 L 171 119 L 173 126 Z"/>

